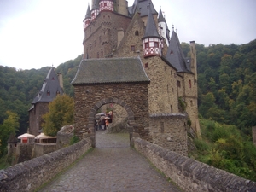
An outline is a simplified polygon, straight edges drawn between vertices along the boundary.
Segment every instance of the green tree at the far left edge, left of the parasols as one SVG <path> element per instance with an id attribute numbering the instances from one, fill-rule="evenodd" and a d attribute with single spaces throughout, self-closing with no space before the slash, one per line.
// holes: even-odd
<path id="1" fill-rule="evenodd" d="M 7 119 L 0 125 L 0 157 L 7 153 L 7 141 L 11 134 L 15 134 L 19 128 L 19 117 L 16 113 L 7 111 Z"/>

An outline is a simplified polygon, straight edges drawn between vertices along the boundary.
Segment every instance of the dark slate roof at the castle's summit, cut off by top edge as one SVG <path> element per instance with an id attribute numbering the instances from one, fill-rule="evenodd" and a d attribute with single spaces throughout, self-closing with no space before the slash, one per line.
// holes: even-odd
<path id="1" fill-rule="evenodd" d="M 131 15 L 134 15 L 137 11 L 140 13 L 141 17 L 148 15 L 148 5 L 150 3 L 151 13 L 153 15 L 158 14 L 154 9 L 154 5 L 151 0 L 135 0 L 133 5 L 128 8 Z"/>

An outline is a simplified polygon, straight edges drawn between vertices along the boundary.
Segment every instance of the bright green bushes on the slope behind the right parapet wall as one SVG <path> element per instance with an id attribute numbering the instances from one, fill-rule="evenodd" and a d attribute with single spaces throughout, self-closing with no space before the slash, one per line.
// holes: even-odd
<path id="1" fill-rule="evenodd" d="M 196 160 L 256 181 L 256 148 L 235 125 L 200 119 L 202 140 L 195 139 Z"/>

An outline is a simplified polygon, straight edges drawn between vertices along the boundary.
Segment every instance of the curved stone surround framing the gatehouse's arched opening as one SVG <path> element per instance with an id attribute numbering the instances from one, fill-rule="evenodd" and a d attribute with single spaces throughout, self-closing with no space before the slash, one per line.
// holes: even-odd
<path id="1" fill-rule="evenodd" d="M 89 117 L 88 117 L 88 124 L 86 125 L 86 127 L 88 127 L 88 130 L 90 130 L 90 133 L 91 133 L 90 136 L 92 136 L 94 147 L 96 145 L 95 115 L 99 108 L 101 108 L 103 105 L 106 105 L 108 103 L 118 104 L 119 106 L 125 108 L 125 111 L 128 114 L 130 140 L 131 140 L 132 134 L 134 132 L 138 132 L 137 131 L 137 123 L 134 118 L 134 113 L 132 112 L 131 107 L 126 102 L 124 102 L 121 99 L 117 99 L 117 98 L 113 98 L 113 97 L 102 99 L 100 102 L 96 102 L 96 104 L 94 104 L 94 106 L 90 109 L 90 113 L 89 113 Z"/>

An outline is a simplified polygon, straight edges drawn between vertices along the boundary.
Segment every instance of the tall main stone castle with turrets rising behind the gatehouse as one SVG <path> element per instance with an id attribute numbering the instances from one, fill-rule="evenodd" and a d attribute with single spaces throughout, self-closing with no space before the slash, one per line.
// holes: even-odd
<path id="1" fill-rule="evenodd" d="M 149 114 L 184 113 L 200 135 L 195 42 L 185 58 L 177 32 L 170 32 L 151 0 L 92 0 L 84 22 L 84 59 L 139 57 L 148 74 Z M 170 37 L 170 33 L 172 33 Z M 135 98 L 136 99 L 136 98 Z"/>

